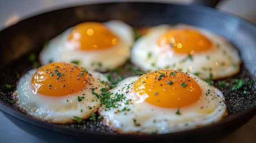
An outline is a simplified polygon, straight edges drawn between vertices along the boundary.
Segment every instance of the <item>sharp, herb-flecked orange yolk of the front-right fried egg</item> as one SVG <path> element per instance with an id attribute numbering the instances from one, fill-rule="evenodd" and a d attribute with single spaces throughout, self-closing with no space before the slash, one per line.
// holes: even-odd
<path id="1" fill-rule="evenodd" d="M 178 108 L 198 102 L 202 90 L 187 73 L 155 70 L 142 75 L 133 85 L 139 99 L 159 107 Z"/>

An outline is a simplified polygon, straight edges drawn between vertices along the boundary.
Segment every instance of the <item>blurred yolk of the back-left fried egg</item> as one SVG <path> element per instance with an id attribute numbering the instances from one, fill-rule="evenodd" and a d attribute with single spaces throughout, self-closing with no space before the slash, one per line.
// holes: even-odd
<path id="1" fill-rule="evenodd" d="M 74 49 L 95 50 L 117 45 L 118 38 L 100 22 L 83 22 L 73 27 L 67 40 Z"/>

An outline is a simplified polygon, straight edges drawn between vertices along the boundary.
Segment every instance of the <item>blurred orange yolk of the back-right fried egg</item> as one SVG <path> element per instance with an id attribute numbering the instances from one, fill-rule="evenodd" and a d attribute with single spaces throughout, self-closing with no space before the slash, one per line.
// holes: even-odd
<path id="1" fill-rule="evenodd" d="M 164 33 L 157 42 L 159 47 L 171 47 L 177 53 L 187 53 L 190 55 L 195 52 L 209 50 L 212 42 L 200 34 L 198 31 L 190 28 L 175 28 Z"/>

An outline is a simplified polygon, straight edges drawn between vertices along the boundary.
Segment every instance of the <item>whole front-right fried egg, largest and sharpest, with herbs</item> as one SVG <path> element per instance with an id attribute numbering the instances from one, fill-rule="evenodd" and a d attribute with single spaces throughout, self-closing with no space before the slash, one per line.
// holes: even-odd
<path id="1" fill-rule="evenodd" d="M 99 114 L 105 125 L 124 134 L 183 132 L 227 115 L 220 90 L 178 70 L 128 77 L 109 92 L 112 97 L 99 108 Z"/>

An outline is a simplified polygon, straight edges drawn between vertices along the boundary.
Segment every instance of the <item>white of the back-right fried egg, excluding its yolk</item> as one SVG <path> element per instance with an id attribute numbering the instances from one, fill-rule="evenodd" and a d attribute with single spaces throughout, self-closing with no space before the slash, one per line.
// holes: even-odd
<path id="1" fill-rule="evenodd" d="M 208 51 L 188 54 L 170 53 L 159 48 L 159 37 L 173 28 L 191 28 L 200 31 L 212 43 L 213 48 Z M 184 72 L 198 74 L 201 79 L 220 79 L 229 77 L 240 71 L 241 59 L 238 51 L 224 37 L 206 29 L 177 24 L 171 26 L 161 24 L 149 28 L 148 32 L 139 37 L 132 48 L 131 62 L 142 70 L 150 71 L 162 68 L 173 68 Z"/>

